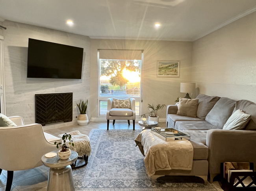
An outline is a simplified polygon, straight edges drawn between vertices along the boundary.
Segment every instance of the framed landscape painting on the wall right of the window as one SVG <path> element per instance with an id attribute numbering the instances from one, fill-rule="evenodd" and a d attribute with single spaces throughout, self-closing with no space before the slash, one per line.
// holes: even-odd
<path id="1" fill-rule="evenodd" d="M 157 77 L 180 77 L 180 62 L 158 61 Z"/>

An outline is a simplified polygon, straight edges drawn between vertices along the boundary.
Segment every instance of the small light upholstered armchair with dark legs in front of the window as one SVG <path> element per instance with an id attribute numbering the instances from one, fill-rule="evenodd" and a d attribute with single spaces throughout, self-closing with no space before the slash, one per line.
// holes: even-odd
<path id="1" fill-rule="evenodd" d="M 113 125 L 115 124 L 115 120 L 128 120 L 128 124 L 130 125 L 130 120 L 133 122 L 133 127 L 135 130 L 135 99 L 130 99 L 130 108 L 124 107 L 113 107 L 113 98 L 108 98 L 108 111 L 107 111 L 107 129 L 109 127 L 109 120 L 113 119 Z"/>

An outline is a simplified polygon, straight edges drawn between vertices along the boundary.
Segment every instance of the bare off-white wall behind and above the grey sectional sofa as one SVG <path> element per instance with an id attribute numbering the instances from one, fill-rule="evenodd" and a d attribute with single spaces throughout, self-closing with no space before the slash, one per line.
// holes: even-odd
<path id="1" fill-rule="evenodd" d="M 193 42 L 200 93 L 256 102 L 256 12 Z"/>

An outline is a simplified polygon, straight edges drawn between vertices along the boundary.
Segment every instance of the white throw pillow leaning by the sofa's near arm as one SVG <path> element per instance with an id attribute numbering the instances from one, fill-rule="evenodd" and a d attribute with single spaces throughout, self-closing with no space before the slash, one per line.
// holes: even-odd
<path id="1" fill-rule="evenodd" d="M 237 109 L 231 116 L 228 118 L 226 124 L 223 126 L 223 129 L 243 129 L 250 120 L 250 115 L 243 113 L 240 109 Z"/>

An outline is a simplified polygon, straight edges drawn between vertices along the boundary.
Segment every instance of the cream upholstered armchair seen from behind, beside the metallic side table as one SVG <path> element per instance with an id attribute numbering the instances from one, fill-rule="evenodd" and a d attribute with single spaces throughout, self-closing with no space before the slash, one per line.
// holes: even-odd
<path id="1" fill-rule="evenodd" d="M 2 169 L 7 171 L 6 191 L 11 190 L 13 171 L 41 166 L 41 157 L 55 151 L 53 143 L 61 141 L 44 133 L 41 124 L 24 125 L 20 116 L 9 118 L 17 127 L 0 127 L 0 174 Z"/>

